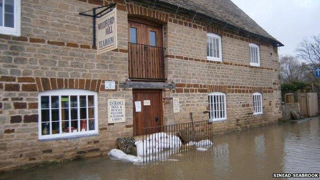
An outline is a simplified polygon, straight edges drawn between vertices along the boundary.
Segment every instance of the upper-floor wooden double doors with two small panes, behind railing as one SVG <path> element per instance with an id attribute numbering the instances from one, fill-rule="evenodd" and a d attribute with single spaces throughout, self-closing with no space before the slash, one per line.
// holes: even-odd
<path id="1" fill-rule="evenodd" d="M 164 79 L 162 27 L 142 21 L 128 21 L 129 77 L 138 81 Z"/>

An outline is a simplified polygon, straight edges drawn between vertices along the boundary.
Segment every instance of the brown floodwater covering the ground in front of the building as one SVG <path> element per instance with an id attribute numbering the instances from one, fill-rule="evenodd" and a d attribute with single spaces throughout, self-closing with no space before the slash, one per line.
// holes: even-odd
<path id="1" fill-rule="evenodd" d="M 320 172 L 320 119 L 217 135 L 208 151 L 174 154 L 148 165 L 108 156 L 0 174 L 0 179 L 271 179 Z"/>

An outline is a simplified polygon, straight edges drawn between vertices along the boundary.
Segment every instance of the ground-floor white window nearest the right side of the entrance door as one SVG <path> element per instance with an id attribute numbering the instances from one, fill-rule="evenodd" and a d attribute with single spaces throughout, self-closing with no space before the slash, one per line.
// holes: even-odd
<path id="1" fill-rule="evenodd" d="M 211 121 L 222 121 L 227 119 L 226 94 L 223 92 L 212 92 L 208 95 L 209 118 Z"/>

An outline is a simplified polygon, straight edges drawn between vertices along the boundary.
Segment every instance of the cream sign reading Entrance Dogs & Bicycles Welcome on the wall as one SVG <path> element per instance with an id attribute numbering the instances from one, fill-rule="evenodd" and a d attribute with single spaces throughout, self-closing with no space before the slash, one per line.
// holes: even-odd
<path id="1" fill-rule="evenodd" d="M 108 123 L 126 122 L 125 99 L 108 99 Z"/>

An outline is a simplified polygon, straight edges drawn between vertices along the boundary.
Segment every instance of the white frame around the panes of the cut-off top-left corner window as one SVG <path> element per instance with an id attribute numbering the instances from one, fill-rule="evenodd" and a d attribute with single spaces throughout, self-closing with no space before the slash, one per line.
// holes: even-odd
<path id="1" fill-rule="evenodd" d="M 3 6 L 4 4 L 3 0 Z M 0 34 L 20 36 L 21 33 L 21 0 L 14 0 L 14 28 L 5 27 L 4 7 L 3 7 L 3 26 L 0 26 Z"/>

